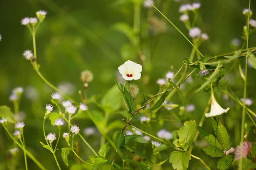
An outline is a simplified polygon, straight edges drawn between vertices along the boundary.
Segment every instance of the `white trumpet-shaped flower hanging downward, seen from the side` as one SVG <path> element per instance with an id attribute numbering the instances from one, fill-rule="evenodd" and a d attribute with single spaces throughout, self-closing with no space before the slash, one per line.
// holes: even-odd
<path id="1" fill-rule="evenodd" d="M 217 116 L 217 115 L 221 115 L 222 113 L 227 113 L 227 111 L 230 108 L 228 107 L 227 109 L 222 108 L 216 101 L 214 95 L 212 94 L 212 104 L 211 104 L 211 112 L 210 113 L 206 113 L 205 117 L 209 118 L 212 116 Z"/>

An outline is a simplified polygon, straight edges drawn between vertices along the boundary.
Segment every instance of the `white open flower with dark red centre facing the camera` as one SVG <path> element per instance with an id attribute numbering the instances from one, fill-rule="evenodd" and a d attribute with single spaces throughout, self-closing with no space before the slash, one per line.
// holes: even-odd
<path id="1" fill-rule="evenodd" d="M 142 65 L 128 60 L 124 64 L 120 65 L 118 70 L 125 80 L 138 80 L 141 78 Z"/>

